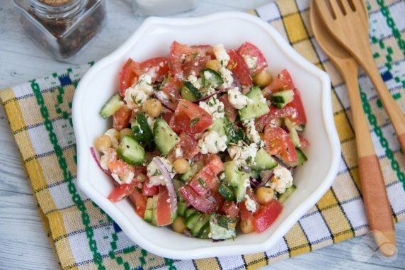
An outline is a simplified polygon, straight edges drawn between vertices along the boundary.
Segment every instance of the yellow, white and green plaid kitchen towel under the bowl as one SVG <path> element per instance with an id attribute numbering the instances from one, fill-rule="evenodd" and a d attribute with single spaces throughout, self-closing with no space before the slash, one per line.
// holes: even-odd
<path id="1" fill-rule="evenodd" d="M 367 9 L 375 61 L 405 111 L 405 3 L 369 0 Z M 331 77 L 333 113 L 342 145 L 341 164 L 331 189 L 266 252 L 186 261 L 157 257 L 130 241 L 77 189 L 70 113 L 74 89 L 91 64 L 34 79 L 1 91 L 0 98 L 62 269 L 255 269 L 367 232 L 346 86 L 314 40 L 309 1 L 276 1 L 253 13 Z M 398 222 L 405 218 L 405 157 L 370 80 L 360 73 L 359 84 L 392 215 Z"/>

